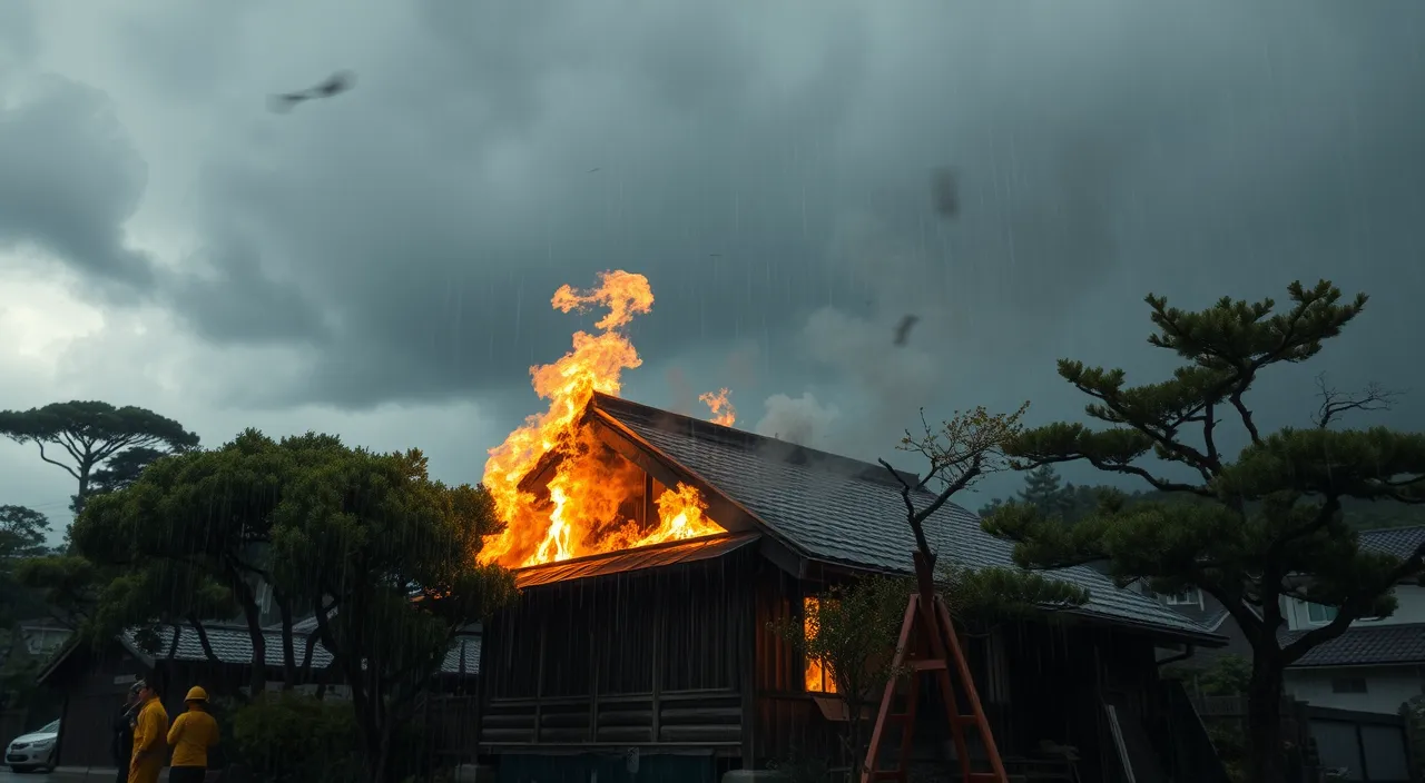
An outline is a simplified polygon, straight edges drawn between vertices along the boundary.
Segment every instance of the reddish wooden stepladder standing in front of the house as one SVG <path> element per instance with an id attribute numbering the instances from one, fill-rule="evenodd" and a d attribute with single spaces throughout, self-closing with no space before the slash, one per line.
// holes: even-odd
<path id="1" fill-rule="evenodd" d="M 886 683 L 885 695 L 881 696 L 881 710 L 876 713 L 875 727 L 871 730 L 871 745 L 866 749 L 865 767 L 861 770 L 861 783 L 876 783 L 879 780 L 898 780 L 905 783 L 911 773 L 911 749 L 915 742 L 916 708 L 919 706 L 922 678 L 933 678 L 939 685 L 940 700 L 945 702 L 945 713 L 950 726 L 950 736 L 955 740 L 955 755 L 960 763 L 962 783 L 1007 783 L 1005 763 L 999 757 L 995 746 L 995 736 L 990 732 L 989 720 L 985 719 L 985 709 L 980 706 L 979 693 L 975 690 L 975 680 L 970 668 L 965 662 L 960 642 L 950 625 L 950 614 L 945 602 L 935 595 L 935 584 L 931 578 L 931 565 L 921 552 L 915 552 L 916 592 L 911 594 L 911 601 L 905 606 L 905 619 L 901 622 L 901 638 L 896 641 L 895 669 L 906 672 L 909 689 L 906 692 L 905 712 L 892 712 L 896 700 L 896 679 Z M 959 700 L 955 696 L 955 682 L 959 680 L 969 702 L 969 715 L 960 713 Z M 888 723 L 901 726 L 901 753 L 893 769 L 881 769 L 881 742 L 885 739 Z M 980 743 L 985 746 L 988 772 L 976 772 L 965 742 L 965 729 L 972 727 L 979 732 Z"/>

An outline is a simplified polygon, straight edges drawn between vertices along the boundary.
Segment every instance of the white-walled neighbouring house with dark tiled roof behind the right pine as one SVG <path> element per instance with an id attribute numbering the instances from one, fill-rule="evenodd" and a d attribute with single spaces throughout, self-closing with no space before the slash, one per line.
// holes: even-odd
<path id="1" fill-rule="evenodd" d="M 1368 530 L 1359 535 L 1362 550 L 1404 558 L 1425 542 L 1425 525 Z M 1226 653 L 1251 658 L 1245 635 L 1216 598 L 1198 589 L 1157 598 L 1228 639 L 1220 649 L 1197 652 L 1190 659 L 1194 666 L 1208 666 Z M 1418 578 L 1401 582 L 1395 599 L 1394 615 L 1358 619 L 1345 634 L 1290 666 L 1287 692 L 1314 706 L 1392 715 L 1411 696 L 1425 693 L 1425 587 Z M 1287 622 L 1282 643 L 1335 619 L 1334 606 L 1295 598 L 1284 598 L 1281 609 Z"/>

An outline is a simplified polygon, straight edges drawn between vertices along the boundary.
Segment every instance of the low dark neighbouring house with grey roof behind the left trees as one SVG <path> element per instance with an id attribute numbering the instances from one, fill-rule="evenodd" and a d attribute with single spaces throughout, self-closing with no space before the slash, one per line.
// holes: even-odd
<path id="1" fill-rule="evenodd" d="M 294 624 L 298 663 L 315 625 L 311 619 Z M 74 643 L 56 656 L 40 672 L 40 683 L 64 698 L 58 763 L 113 766 L 110 722 L 124 703 L 130 685 L 141 678 L 160 686 L 168 715 L 182 712 L 182 696 L 194 685 L 201 685 L 214 698 L 247 692 L 252 671 L 252 638 L 247 626 L 212 622 L 204 624 L 204 631 L 218 658 L 217 663 L 204 652 L 198 634 L 188 625 L 162 626 L 152 638 L 144 639 L 140 634 L 127 631 L 98 649 Z M 452 645 L 440 668 L 442 679 L 460 680 L 479 675 L 479 625 L 470 626 Z M 282 686 L 282 632 L 279 628 L 268 628 L 264 635 L 266 688 L 276 690 Z M 312 693 L 321 688 L 329 698 L 346 698 L 346 688 L 335 672 L 328 672 L 331 662 L 332 658 L 321 642 L 315 643 L 311 676 L 301 680 L 298 690 Z"/>

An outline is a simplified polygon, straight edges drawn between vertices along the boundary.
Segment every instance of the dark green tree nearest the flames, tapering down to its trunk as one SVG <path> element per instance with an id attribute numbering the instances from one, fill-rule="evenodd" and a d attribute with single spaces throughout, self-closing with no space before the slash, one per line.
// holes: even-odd
<path id="1" fill-rule="evenodd" d="M 315 434 L 281 448 L 294 468 L 272 514 L 274 584 L 321 606 L 366 772 L 382 779 L 398 726 L 456 634 L 514 597 L 509 571 L 476 559 L 500 527 L 494 503 L 483 487 L 433 481 L 415 450 L 378 454 Z"/>

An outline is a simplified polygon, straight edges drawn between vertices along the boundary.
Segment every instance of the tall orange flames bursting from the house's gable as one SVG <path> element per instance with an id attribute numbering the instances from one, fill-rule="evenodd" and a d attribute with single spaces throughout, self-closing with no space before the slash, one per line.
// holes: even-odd
<path id="1" fill-rule="evenodd" d="M 594 305 L 608 313 L 594 323 L 598 333 L 574 332 L 574 347 L 560 360 L 530 367 L 534 393 L 549 400 L 549 410 L 526 419 L 490 450 L 482 481 L 506 527 L 486 537 L 480 562 L 520 568 L 725 532 L 707 518 L 707 504 L 694 487 L 664 487 L 656 504 L 644 497 L 643 471 L 608 451 L 580 423 L 594 392 L 618 394 L 623 372 L 643 364 L 620 329 L 653 308 L 648 279 L 604 272 L 597 288 L 580 292 L 564 285 L 550 303 L 566 313 Z M 542 498 L 522 490 L 520 483 L 542 468 L 546 454 L 560 460 L 544 484 L 549 497 Z M 654 505 L 656 520 L 638 518 L 653 517 Z"/>

